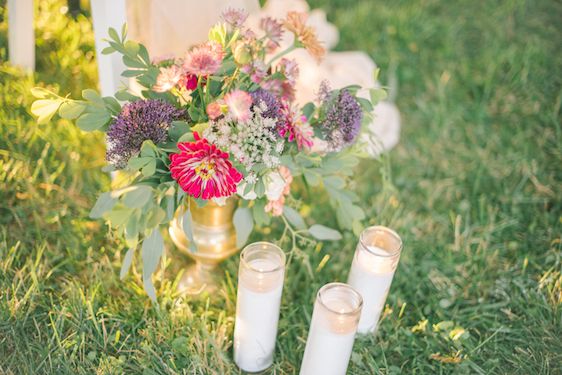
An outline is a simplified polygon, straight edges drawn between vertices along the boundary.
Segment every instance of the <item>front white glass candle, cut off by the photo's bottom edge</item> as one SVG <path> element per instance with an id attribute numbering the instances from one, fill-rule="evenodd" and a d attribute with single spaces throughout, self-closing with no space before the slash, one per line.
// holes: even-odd
<path id="1" fill-rule="evenodd" d="M 345 375 L 362 305 L 361 295 L 347 284 L 320 288 L 300 375 Z"/>

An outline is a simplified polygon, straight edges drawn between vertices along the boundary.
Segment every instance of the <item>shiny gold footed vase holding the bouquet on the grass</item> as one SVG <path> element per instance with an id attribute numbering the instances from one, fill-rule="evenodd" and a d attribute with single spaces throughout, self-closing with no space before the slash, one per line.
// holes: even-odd
<path id="1" fill-rule="evenodd" d="M 213 201 L 203 207 L 192 200 L 189 204 L 195 246 L 189 245 L 183 230 L 183 217 L 187 205 L 178 207 L 170 223 L 170 237 L 184 254 L 195 263 L 187 267 L 178 284 L 182 294 L 212 292 L 218 286 L 217 267 L 220 262 L 238 251 L 236 231 L 232 222 L 236 198 L 228 198 L 223 206 Z"/>

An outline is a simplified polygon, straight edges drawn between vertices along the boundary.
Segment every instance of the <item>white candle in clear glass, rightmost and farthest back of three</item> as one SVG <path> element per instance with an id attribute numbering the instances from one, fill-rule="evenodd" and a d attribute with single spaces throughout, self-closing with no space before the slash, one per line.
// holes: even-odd
<path id="1" fill-rule="evenodd" d="M 401 251 L 402 239 L 392 229 L 373 226 L 361 233 L 347 280 L 363 297 L 357 332 L 376 332 Z"/>

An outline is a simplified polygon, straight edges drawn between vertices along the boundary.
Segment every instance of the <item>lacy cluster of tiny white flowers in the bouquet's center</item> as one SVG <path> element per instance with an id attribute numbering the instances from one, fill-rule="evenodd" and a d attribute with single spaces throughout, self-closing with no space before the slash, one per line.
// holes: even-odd
<path id="1" fill-rule="evenodd" d="M 237 122 L 228 115 L 211 121 L 203 135 L 228 151 L 247 171 L 256 164 L 276 168 L 281 164 L 285 141 L 277 134 L 276 120 L 262 116 L 266 109 L 263 102 L 254 106 L 252 117 L 245 122 Z"/>

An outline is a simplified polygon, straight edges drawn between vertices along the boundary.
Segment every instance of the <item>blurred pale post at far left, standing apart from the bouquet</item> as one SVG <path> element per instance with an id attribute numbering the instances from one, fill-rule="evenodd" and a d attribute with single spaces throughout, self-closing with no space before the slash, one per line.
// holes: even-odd
<path id="1" fill-rule="evenodd" d="M 12 65 L 35 69 L 33 0 L 8 0 L 8 47 Z"/>

